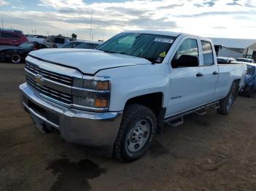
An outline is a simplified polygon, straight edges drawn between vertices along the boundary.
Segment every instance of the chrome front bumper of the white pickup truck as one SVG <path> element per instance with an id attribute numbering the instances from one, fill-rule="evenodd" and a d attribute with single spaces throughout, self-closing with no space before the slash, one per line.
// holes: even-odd
<path id="1" fill-rule="evenodd" d="M 26 83 L 20 85 L 20 101 L 31 117 L 45 128 L 59 131 L 69 142 L 94 147 L 112 155 L 122 112 L 86 112 L 54 104 L 40 97 Z"/>

